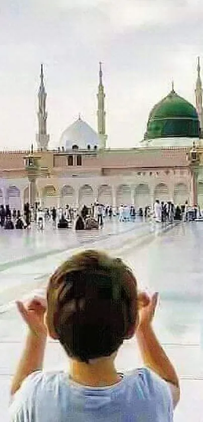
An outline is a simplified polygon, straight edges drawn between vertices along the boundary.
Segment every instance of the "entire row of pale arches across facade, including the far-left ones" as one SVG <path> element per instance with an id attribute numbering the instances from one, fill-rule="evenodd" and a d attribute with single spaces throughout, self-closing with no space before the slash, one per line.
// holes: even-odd
<path id="1" fill-rule="evenodd" d="M 203 208 L 203 181 L 199 182 L 198 194 Z M 2 188 L 0 185 L 0 204 L 10 204 L 11 208 L 22 209 L 23 204 L 29 202 L 29 185 L 20 189 L 16 185 L 9 185 Z M 44 207 L 52 206 L 78 206 L 81 208 L 84 204 L 90 206 L 96 199 L 104 205 L 119 206 L 134 204 L 136 207 L 145 207 L 151 205 L 156 199 L 163 201 L 173 201 L 174 204 L 182 204 L 190 200 L 190 192 L 185 183 L 176 183 L 170 189 L 166 183 L 158 182 L 155 186 L 148 183 L 119 184 L 111 186 L 110 184 L 99 185 L 91 184 L 81 186 L 71 186 L 69 184 L 57 187 L 46 185 L 43 188 L 36 189 L 36 201 Z"/>

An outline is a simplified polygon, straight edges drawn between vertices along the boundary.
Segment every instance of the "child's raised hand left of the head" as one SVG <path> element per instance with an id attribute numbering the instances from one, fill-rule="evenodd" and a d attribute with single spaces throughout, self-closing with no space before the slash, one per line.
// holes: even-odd
<path id="1" fill-rule="evenodd" d="M 35 296 L 27 303 L 16 302 L 17 308 L 30 330 L 39 336 L 47 335 L 47 328 L 44 324 L 44 313 L 46 311 L 46 300 Z"/>

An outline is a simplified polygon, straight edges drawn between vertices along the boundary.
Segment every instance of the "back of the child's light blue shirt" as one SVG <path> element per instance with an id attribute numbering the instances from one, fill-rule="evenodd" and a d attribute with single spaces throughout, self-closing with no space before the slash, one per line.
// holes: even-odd
<path id="1" fill-rule="evenodd" d="M 14 395 L 11 422 L 172 422 L 168 384 L 147 368 L 110 387 L 86 387 L 65 373 L 36 371 Z"/>

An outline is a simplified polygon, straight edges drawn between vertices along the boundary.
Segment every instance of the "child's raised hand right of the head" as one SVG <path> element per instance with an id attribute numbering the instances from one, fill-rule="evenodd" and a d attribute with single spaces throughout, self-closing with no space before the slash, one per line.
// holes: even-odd
<path id="1" fill-rule="evenodd" d="M 150 298 L 147 293 L 141 293 L 141 295 L 145 295 L 145 301 L 141 300 L 141 306 L 139 307 L 139 325 L 138 329 L 145 329 L 149 325 L 151 325 L 152 320 L 154 318 L 155 309 L 158 302 L 159 293 L 154 293 L 153 296 Z M 148 297 L 148 300 L 147 300 Z M 142 299 L 142 298 L 141 298 Z"/>

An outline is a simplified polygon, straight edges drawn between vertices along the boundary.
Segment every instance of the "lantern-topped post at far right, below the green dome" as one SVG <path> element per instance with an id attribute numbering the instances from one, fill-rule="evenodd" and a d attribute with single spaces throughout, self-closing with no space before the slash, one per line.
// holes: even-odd
<path id="1" fill-rule="evenodd" d="M 193 147 L 190 149 L 189 153 L 186 154 L 187 161 L 189 162 L 189 168 L 191 172 L 191 191 L 192 191 L 192 202 L 193 205 L 197 205 L 198 202 L 198 171 L 199 171 L 199 152 L 198 146 L 195 147 L 193 142 Z"/>

